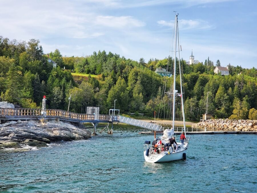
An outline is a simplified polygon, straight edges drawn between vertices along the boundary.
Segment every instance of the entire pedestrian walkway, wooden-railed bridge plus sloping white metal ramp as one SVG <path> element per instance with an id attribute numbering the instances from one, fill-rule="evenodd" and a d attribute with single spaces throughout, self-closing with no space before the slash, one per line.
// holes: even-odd
<path id="1" fill-rule="evenodd" d="M 43 119 L 42 114 L 43 111 L 41 109 L 0 108 L 0 120 L 40 120 Z M 148 123 L 121 115 L 80 114 L 59 109 L 46 109 L 45 114 L 46 120 L 59 119 L 76 123 L 92 123 L 94 126 L 98 123 L 121 122 L 150 130 L 162 131 L 162 126 L 158 124 Z"/>

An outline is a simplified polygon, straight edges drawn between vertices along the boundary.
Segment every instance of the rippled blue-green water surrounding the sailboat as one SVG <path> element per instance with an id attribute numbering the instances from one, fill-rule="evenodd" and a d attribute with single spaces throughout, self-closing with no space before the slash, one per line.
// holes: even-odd
<path id="1" fill-rule="evenodd" d="M 257 192 L 256 135 L 192 135 L 186 161 L 144 161 L 142 129 L 0 152 L 0 192 Z"/>

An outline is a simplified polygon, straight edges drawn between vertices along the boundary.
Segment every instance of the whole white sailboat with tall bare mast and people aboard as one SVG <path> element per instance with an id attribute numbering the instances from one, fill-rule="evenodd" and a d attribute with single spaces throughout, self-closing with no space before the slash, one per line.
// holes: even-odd
<path id="1" fill-rule="evenodd" d="M 184 113 L 184 101 L 183 101 L 183 92 L 182 92 L 182 79 L 181 79 L 181 67 L 180 67 L 180 51 L 179 45 L 177 45 L 178 40 L 178 14 L 175 14 L 175 43 L 174 43 L 174 75 L 173 75 L 173 91 L 165 92 L 173 98 L 172 106 L 172 128 L 165 129 L 162 133 L 162 136 L 156 138 L 154 135 L 154 142 L 150 144 L 150 141 L 145 141 L 144 144 L 144 159 L 146 162 L 157 163 L 157 162 L 170 162 L 175 160 L 185 160 L 186 151 L 188 149 L 189 138 L 186 138 L 184 141 L 176 142 L 176 146 L 170 147 L 169 140 L 174 137 L 174 123 L 175 123 L 175 105 L 176 97 L 181 98 L 181 108 L 183 116 L 183 128 L 184 136 L 186 137 L 186 125 L 185 125 L 185 113 Z M 178 55 L 179 55 L 179 71 L 180 71 L 180 91 L 178 93 L 176 90 L 176 48 L 178 46 Z M 168 68 L 168 67 L 167 67 Z M 165 82 L 165 81 L 164 81 Z M 166 86 L 165 86 L 166 88 Z M 175 144 L 175 143 L 174 143 Z"/>

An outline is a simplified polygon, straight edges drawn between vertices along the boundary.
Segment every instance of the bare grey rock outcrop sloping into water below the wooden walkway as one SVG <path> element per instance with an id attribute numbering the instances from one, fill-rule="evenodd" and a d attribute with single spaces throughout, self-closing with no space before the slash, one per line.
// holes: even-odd
<path id="1" fill-rule="evenodd" d="M 80 126 L 81 127 L 81 126 Z M 38 147 L 47 147 L 51 142 L 83 140 L 91 138 L 87 129 L 67 122 L 10 121 L 0 124 L 0 151 L 23 151 Z"/>

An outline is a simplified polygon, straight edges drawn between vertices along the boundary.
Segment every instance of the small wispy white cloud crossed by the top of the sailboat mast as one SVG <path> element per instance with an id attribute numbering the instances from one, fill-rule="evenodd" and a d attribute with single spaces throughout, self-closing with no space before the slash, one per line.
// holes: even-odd
<path id="1" fill-rule="evenodd" d="M 164 20 L 160 20 L 157 21 L 157 23 L 159 25 L 162 26 L 168 26 L 168 27 L 174 27 L 174 21 L 164 21 Z M 181 30 L 189 30 L 189 29 L 213 29 L 215 28 L 214 26 L 210 25 L 207 21 L 203 21 L 200 19 L 180 19 L 179 23 L 178 23 L 178 27 Z"/>

